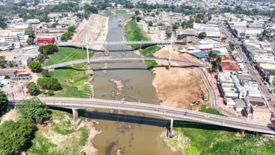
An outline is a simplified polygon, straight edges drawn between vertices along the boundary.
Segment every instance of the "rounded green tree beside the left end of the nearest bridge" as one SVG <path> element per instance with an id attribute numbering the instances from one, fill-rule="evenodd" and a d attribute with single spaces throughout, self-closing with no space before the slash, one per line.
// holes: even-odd
<path id="1" fill-rule="evenodd" d="M 38 98 L 21 100 L 15 108 L 22 118 L 30 119 L 34 123 L 42 123 L 50 117 L 47 105 Z"/>

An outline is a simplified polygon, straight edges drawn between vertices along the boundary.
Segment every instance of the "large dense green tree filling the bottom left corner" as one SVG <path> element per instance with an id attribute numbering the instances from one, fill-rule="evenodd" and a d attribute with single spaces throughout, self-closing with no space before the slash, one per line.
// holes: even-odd
<path id="1" fill-rule="evenodd" d="M 20 149 L 26 146 L 33 128 L 29 119 L 3 122 L 0 125 L 0 154 L 19 154 Z"/>

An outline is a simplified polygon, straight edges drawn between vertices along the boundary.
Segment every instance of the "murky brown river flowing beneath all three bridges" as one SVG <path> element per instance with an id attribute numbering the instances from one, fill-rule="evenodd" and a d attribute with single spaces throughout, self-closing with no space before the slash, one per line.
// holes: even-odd
<path id="1" fill-rule="evenodd" d="M 107 41 L 121 41 L 124 35 L 122 27 L 118 26 L 118 20 L 124 20 L 131 15 L 115 15 L 108 20 Z M 109 55 L 122 57 L 121 45 L 107 46 Z M 137 56 L 128 47 L 124 57 Z M 142 61 L 115 61 L 106 62 L 107 73 L 101 71 L 103 63 L 93 64 L 95 78 L 95 98 L 144 102 L 158 104 L 155 89 L 151 85 L 153 76 L 147 70 Z M 120 95 L 115 95 L 117 88 L 110 79 L 121 80 L 123 84 Z M 117 117 L 117 111 L 110 114 L 110 110 L 96 109 L 91 117 L 99 124 L 97 130 L 102 132 L 95 136 L 92 143 L 99 149 L 98 154 L 115 154 L 120 149 L 122 154 L 175 154 L 159 137 L 162 128 L 168 120 L 160 117 L 135 112 L 122 111 Z M 118 120 L 118 121 L 117 121 Z"/>

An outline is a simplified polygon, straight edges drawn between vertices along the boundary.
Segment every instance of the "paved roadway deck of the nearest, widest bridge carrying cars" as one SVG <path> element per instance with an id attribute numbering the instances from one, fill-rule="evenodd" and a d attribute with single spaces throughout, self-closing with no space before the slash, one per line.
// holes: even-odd
<path id="1" fill-rule="evenodd" d="M 152 115 L 161 116 L 164 118 L 175 120 L 188 120 L 194 122 L 202 122 L 207 124 L 214 124 L 226 126 L 236 129 L 244 129 L 248 131 L 256 131 L 262 133 L 275 134 L 271 129 L 272 124 L 243 120 L 238 118 L 231 118 L 225 116 L 218 116 L 213 114 L 206 114 L 202 112 L 195 112 L 191 110 L 172 108 L 161 105 L 126 102 L 121 104 L 121 101 L 101 100 L 101 99 L 84 99 L 84 98 L 39 98 L 48 106 L 65 107 L 65 108 L 106 108 L 106 109 L 120 109 L 127 111 L 135 111 L 148 113 Z M 17 102 L 18 100 L 15 100 Z M 157 109 L 156 109 L 157 108 Z M 186 115 L 184 115 L 186 114 Z M 207 117 L 205 116 L 207 115 Z"/>

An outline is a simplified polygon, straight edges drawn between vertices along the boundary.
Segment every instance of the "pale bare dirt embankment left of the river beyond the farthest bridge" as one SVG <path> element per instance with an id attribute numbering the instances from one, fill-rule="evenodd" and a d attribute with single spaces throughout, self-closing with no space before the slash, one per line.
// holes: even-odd
<path id="1" fill-rule="evenodd" d="M 92 14 L 89 17 L 88 23 L 81 23 L 76 29 L 76 33 L 72 37 L 72 42 L 88 42 L 105 41 L 108 33 L 108 18 Z M 88 46 L 93 50 L 105 50 L 103 46 Z"/>

